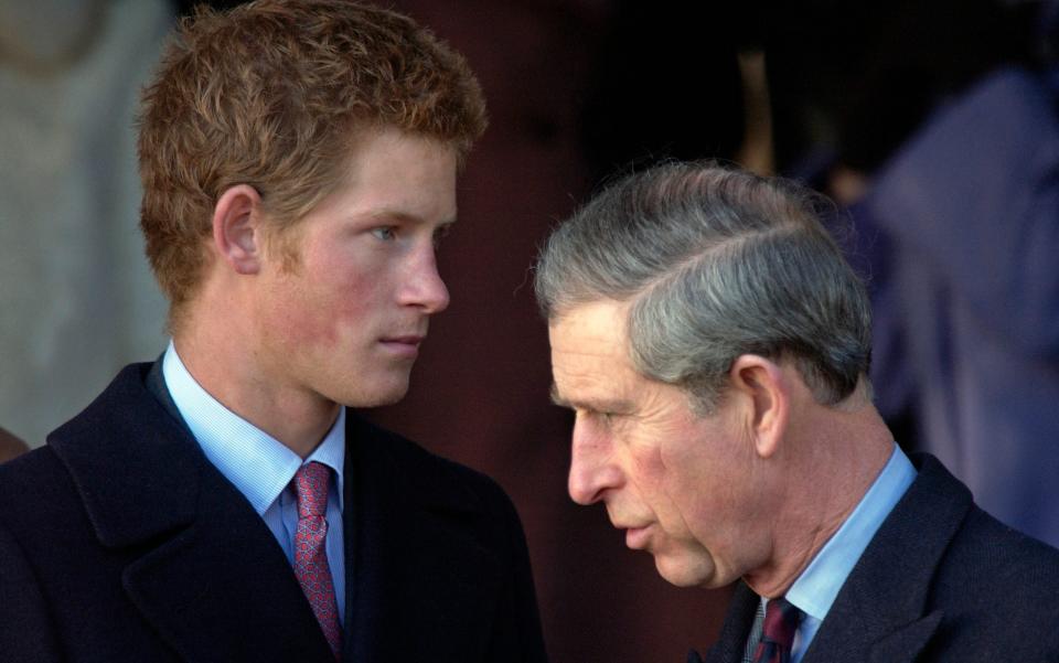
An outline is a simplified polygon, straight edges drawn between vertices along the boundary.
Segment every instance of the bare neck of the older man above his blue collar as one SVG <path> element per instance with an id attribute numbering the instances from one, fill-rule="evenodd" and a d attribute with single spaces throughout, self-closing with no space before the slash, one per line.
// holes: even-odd
<path id="1" fill-rule="evenodd" d="M 784 595 L 798 580 L 892 453 L 892 435 L 869 404 L 856 409 L 822 408 L 809 418 L 789 442 L 771 555 L 744 578 L 769 598 Z"/>

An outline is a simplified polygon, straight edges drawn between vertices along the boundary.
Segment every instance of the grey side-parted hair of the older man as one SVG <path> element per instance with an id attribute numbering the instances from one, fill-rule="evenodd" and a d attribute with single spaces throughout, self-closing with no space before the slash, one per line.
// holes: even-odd
<path id="1" fill-rule="evenodd" d="M 864 379 L 871 312 L 864 284 L 820 222 L 826 199 L 714 163 L 628 175 L 549 236 L 536 265 L 541 310 L 629 302 L 635 368 L 713 413 L 742 354 L 791 360 L 814 398 Z"/>

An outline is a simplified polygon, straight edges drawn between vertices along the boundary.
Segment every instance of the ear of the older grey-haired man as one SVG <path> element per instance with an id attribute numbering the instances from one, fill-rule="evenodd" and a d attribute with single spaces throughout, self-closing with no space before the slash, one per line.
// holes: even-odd
<path id="1" fill-rule="evenodd" d="M 736 359 L 728 373 L 731 388 L 744 396 L 755 449 L 761 458 L 775 453 L 787 431 L 791 391 L 783 368 L 756 354 Z"/>

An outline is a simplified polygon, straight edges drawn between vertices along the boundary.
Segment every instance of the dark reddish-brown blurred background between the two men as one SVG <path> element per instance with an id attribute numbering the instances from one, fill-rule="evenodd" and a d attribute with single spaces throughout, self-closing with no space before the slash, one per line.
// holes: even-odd
<path id="1" fill-rule="evenodd" d="M 600 506 L 566 494 L 570 416 L 549 404 L 547 328 L 528 267 L 589 194 L 577 120 L 608 19 L 601 1 L 399 0 L 467 55 L 491 126 L 439 256 L 452 303 L 431 322 L 408 397 L 372 413 L 494 477 L 525 524 L 555 663 L 683 661 L 719 630 L 727 590 L 676 589 L 625 549 Z"/>

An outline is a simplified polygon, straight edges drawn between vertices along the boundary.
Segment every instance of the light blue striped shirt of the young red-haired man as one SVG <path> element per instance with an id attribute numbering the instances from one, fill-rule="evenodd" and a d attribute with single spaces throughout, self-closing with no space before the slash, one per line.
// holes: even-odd
<path id="1" fill-rule="evenodd" d="M 332 470 L 328 493 L 328 564 L 334 580 L 339 623 L 345 623 L 345 554 L 342 534 L 345 461 L 345 408 L 313 452 L 302 461 L 287 446 L 239 417 L 195 382 L 172 341 L 162 360 L 162 376 L 176 409 L 206 458 L 243 493 L 279 542 L 291 565 L 298 530 L 298 498 L 291 480 L 302 464 L 317 461 Z"/>

